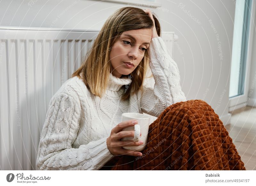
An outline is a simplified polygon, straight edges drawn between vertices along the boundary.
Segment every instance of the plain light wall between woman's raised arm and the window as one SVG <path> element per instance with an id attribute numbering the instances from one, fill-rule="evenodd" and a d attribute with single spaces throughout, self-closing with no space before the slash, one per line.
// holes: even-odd
<path id="1" fill-rule="evenodd" d="M 180 3 L 165 2 L 163 7 L 168 7 L 169 12 L 159 11 L 158 15 L 163 29 L 172 30 L 179 36 L 173 55 L 180 69 L 182 89 L 187 99 L 203 99 L 223 123 L 228 123 L 235 4 L 199 0 Z"/>

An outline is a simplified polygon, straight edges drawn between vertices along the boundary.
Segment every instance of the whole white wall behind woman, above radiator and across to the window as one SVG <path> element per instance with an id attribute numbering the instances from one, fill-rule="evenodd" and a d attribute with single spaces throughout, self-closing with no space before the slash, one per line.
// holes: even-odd
<path id="1" fill-rule="evenodd" d="M 163 30 L 179 36 L 173 54 L 187 99 L 206 101 L 227 123 L 235 0 L 157 2 L 162 7 L 151 9 Z M 124 6 L 127 4 L 97 0 L 2 0 L 0 26 L 98 30 L 109 15 Z"/>

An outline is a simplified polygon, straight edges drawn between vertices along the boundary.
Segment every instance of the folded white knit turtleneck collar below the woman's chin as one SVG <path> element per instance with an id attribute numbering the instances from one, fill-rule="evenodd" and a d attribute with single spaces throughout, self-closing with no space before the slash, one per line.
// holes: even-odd
<path id="1" fill-rule="evenodd" d="M 124 92 L 124 89 L 121 89 L 122 86 L 129 85 L 131 82 L 132 80 L 128 77 L 117 78 L 112 73 L 109 73 L 108 89 L 106 94 L 111 97 L 119 97 Z"/>

